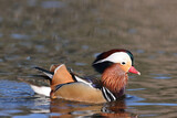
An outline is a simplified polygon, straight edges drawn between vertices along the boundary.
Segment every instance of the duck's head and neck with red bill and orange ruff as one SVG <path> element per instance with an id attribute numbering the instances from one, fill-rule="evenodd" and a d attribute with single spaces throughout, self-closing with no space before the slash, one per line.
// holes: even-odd
<path id="1" fill-rule="evenodd" d="M 101 53 L 93 62 L 93 67 L 102 74 L 102 84 L 112 93 L 124 89 L 127 73 L 140 75 L 134 67 L 133 54 L 127 50 L 111 50 Z"/>

